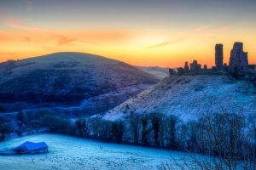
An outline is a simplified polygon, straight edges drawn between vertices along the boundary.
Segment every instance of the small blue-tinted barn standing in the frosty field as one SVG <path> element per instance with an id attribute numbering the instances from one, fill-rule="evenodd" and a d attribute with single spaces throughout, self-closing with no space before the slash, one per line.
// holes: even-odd
<path id="1" fill-rule="evenodd" d="M 25 142 L 15 148 L 17 154 L 42 154 L 48 152 L 48 145 L 45 142 Z"/>

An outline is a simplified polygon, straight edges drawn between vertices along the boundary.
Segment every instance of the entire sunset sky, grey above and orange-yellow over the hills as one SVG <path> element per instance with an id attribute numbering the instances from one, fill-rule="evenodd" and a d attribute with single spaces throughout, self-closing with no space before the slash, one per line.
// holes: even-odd
<path id="1" fill-rule="evenodd" d="M 0 61 L 73 51 L 132 65 L 214 63 L 244 42 L 256 63 L 255 0 L 0 0 Z"/>

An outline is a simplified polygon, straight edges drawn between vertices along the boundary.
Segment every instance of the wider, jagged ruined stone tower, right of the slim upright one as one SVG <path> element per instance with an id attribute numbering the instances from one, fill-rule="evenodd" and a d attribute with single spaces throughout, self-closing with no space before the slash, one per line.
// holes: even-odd
<path id="1" fill-rule="evenodd" d="M 248 67 L 248 56 L 243 51 L 242 42 L 235 42 L 230 53 L 229 70 L 231 72 L 246 71 Z"/>

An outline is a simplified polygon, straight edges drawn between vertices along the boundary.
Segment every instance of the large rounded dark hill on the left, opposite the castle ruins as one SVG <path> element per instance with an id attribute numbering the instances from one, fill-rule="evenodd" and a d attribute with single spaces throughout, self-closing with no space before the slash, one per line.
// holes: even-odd
<path id="1" fill-rule="evenodd" d="M 8 61 L 0 64 L 0 111 L 70 105 L 107 111 L 158 81 L 132 65 L 94 54 Z"/>

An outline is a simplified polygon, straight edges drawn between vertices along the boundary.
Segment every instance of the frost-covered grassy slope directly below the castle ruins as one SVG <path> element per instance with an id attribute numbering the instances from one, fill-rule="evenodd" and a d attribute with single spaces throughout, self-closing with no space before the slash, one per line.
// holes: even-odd
<path id="1" fill-rule="evenodd" d="M 160 112 L 180 116 L 184 121 L 196 119 L 204 111 L 256 113 L 256 88 L 252 82 L 228 76 L 167 77 L 141 94 L 108 111 L 105 119 Z"/>

